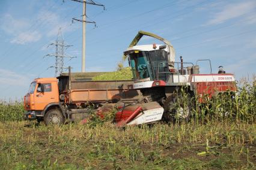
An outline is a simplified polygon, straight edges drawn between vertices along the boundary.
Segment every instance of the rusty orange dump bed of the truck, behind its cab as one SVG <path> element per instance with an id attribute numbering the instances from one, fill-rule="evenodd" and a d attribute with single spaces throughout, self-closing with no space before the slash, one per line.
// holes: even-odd
<path id="1" fill-rule="evenodd" d="M 64 93 L 69 103 L 119 101 L 133 99 L 139 95 L 137 90 L 129 90 L 133 80 L 84 81 L 81 78 L 61 76 L 60 93 Z"/>

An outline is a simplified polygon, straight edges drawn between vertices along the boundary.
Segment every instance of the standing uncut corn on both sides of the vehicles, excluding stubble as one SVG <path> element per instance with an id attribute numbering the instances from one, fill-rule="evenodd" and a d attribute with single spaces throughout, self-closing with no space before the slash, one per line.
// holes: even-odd
<path id="1" fill-rule="evenodd" d="M 187 94 L 184 91 L 181 95 L 182 99 L 187 98 Z M 195 98 L 191 98 L 190 102 L 194 102 Z M 192 108 L 192 117 L 197 122 L 213 120 L 255 122 L 256 86 L 253 83 L 244 83 L 243 86 L 237 86 L 236 94 L 226 92 L 212 99 L 207 99 L 206 96 L 205 101 L 204 104 L 197 103 Z M 22 120 L 24 112 L 22 101 L 0 101 L 1 122 Z"/>

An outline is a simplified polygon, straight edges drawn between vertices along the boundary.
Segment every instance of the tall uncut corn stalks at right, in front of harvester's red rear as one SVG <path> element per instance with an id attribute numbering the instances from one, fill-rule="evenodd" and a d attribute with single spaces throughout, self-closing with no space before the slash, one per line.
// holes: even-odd
<path id="1" fill-rule="evenodd" d="M 195 111 L 196 120 L 255 122 L 256 118 L 256 86 L 244 83 L 237 86 L 237 93 L 225 92 L 207 99 L 204 104 L 197 104 L 200 110 Z M 197 108 L 198 108 L 197 107 Z"/>

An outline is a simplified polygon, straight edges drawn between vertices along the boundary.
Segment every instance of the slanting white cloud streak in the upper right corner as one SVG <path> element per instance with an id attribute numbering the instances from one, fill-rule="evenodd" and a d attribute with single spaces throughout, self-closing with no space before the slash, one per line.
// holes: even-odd
<path id="1" fill-rule="evenodd" d="M 249 13 L 256 7 L 255 1 L 245 1 L 225 5 L 219 13 L 216 13 L 213 19 L 209 20 L 206 25 L 217 25 L 227 20 L 234 19 Z"/>

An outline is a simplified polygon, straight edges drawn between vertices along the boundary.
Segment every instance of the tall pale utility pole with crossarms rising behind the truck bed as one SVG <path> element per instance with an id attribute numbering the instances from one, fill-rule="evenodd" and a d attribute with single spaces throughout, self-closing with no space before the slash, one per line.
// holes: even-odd
<path id="1" fill-rule="evenodd" d="M 83 3 L 82 20 L 73 18 L 72 22 L 73 22 L 73 20 L 76 20 L 76 21 L 82 22 L 82 25 L 83 25 L 83 28 L 82 28 L 83 29 L 82 30 L 82 72 L 85 72 L 85 38 L 86 38 L 85 37 L 85 30 L 86 30 L 86 23 L 94 23 L 96 25 L 96 22 L 94 22 L 94 21 L 87 21 L 86 4 L 102 6 L 102 7 L 104 7 L 104 10 L 105 10 L 105 6 L 102 5 L 102 4 L 96 4 L 93 0 L 88 0 L 88 1 L 86 1 L 86 0 L 71 0 L 71 1 Z"/>

